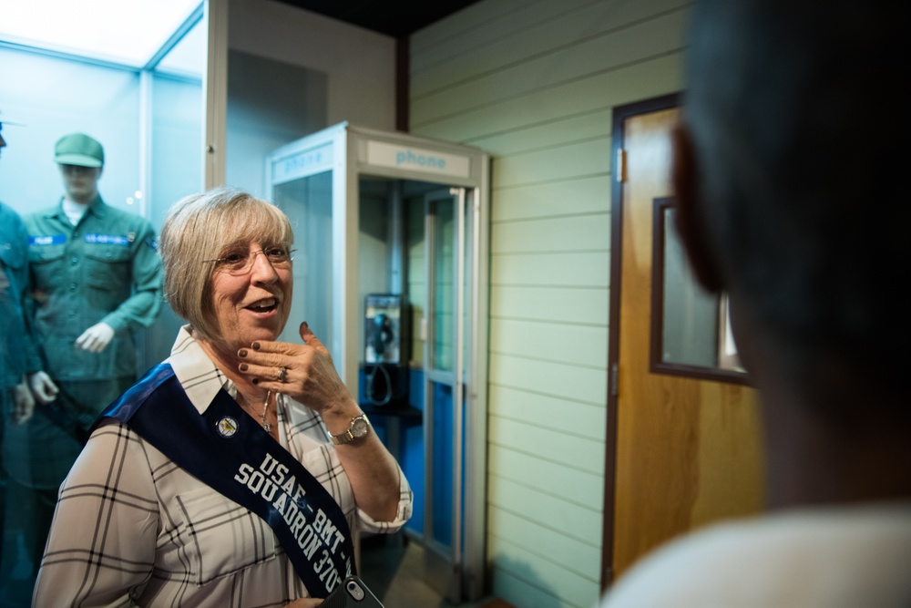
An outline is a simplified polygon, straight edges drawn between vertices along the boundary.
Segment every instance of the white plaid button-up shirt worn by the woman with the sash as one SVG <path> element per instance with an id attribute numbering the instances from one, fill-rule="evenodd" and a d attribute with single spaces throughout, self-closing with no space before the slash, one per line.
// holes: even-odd
<path id="1" fill-rule="evenodd" d="M 235 394 L 186 327 L 168 362 L 200 413 L 220 388 Z M 372 520 L 321 418 L 280 397 L 281 446 L 341 505 L 352 533 L 401 528 L 412 508 L 401 470 L 396 519 Z M 239 608 L 299 597 L 309 594 L 263 520 L 115 423 L 95 431 L 60 489 L 33 605 Z"/>

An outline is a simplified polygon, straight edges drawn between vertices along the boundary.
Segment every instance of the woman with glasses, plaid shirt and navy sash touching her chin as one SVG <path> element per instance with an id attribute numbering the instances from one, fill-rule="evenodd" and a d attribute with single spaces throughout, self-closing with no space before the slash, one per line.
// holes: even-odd
<path id="1" fill-rule="evenodd" d="M 411 514 L 401 469 L 292 304 L 291 224 L 218 189 L 161 232 L 171 356 L 98 418 L 60 489 L 36 606 L 315 606 L 352 535 Z"/>

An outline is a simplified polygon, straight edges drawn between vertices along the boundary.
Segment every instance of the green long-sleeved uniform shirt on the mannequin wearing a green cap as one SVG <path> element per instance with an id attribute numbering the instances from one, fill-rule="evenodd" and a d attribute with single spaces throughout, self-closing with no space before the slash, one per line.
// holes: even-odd
<path id="1" fill-rule="evenodd" d="M 36 301 L 35 332 L 59 380 L 136 375 L 133 332 L 161 308 L 161 259 L 152 226 L 100 197 L 74 226 L 60 204 L 24 218 Z M 116 332 L 101 353 L 74 346 L 104 321 Z"/>

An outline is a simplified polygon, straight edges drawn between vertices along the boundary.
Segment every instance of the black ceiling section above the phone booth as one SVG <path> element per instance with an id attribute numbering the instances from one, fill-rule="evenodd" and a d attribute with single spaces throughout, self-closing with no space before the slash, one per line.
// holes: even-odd
<path id="1" fill-rule="evenodd" d="M 404 37 L 478 0 L 280 0 L 354 26 Z"/>

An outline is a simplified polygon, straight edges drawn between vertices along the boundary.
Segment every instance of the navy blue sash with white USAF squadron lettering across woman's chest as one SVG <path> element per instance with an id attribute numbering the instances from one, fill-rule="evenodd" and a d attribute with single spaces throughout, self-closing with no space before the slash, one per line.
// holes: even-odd
<path id="1" fill-rule="evenodd" d="M 105 418 L 128 425 L 181 469 L 266 521 L 314 597 L 326 597 L 355 572 L 341 507 L 224 390 L 200 416 L 162 363 L 108 406 L 92 430 Z"/>

